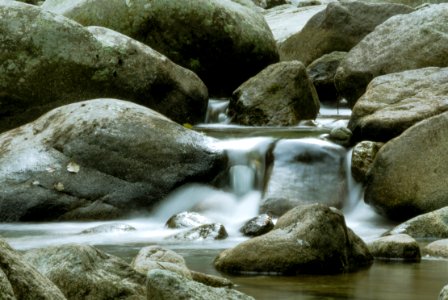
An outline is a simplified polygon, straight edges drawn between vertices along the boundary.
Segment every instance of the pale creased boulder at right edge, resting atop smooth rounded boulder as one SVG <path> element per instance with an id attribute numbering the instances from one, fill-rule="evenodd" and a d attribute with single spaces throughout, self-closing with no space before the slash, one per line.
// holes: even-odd
<path id="1" fill-rule="evenodd" d="M 374 78 L 353 107 L 353 140 L 385 142 L 448 110 L 448 68 L 424 68 Z"/>

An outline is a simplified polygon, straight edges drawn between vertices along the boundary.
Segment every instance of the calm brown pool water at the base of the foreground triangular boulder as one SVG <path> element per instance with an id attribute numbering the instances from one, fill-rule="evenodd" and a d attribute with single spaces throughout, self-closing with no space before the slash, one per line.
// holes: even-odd
<path id="1" fill-rule="evenodd" d="M 176 250 L 191 269 L 218 274 L 212 262 L 217 250 Z M 229 277 L 229 276 L 226 276 Z M 229 277 L 237 289 L 256 299 L 437 299 L 448 283 L 448 261 L 424 259 L 421 263 L 375 261 L 367 270 L 331 276 Z"/>

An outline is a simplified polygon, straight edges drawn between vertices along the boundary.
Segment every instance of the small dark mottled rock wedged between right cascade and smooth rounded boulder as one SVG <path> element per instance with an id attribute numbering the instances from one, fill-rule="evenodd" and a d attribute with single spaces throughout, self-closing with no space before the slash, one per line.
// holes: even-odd
<path id="1" fill-rule="evenodd" d="M 383 143 L 378 142 L 362 141 L 353 147 L 351 171 L 356 181 L 365 181 L 367 172 L 369 172 L 376 154 L 383 145 Z"/>

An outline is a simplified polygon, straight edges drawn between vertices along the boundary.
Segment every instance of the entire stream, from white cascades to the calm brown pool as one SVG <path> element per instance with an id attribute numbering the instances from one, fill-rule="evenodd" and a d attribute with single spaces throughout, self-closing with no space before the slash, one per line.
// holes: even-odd
<path id="1" fill-rule="evenodd" d="M 80 234 L 83 230 L 111 222 L 59 222 L 0 224 L 0 236 L 17 250 L 27 250 L 65 243 L 95 245 L 111 254 L 131 261 L 140 248 L 159 244 L 181 254 L 196 271 L 219 274 L 213 260 L 220 251 L 244 241 L 239 233 L 244 221 L 256 216 L 265 183 L 266 153 L 273 143 L 288 140 L 291 147 L 324 147 L 323 137 L 331 128 L 346 125 L 350 110 L 321 108 L 315 123 L 297 127 L 241 127 L 225 124 L 225 101 L 213 100 L 208 123 L 194 129 L 216 137 L 229 156 L 229 171 L 222 188 L 201 184 L 182 187 L 173 192 L 148 217 L 120 220 L 136 231 Z M 288 148 L 286 148 L 288 149 Z M 345 150 L 344 150 L 345 151 Z M 362 188 L 350 174 L 350 150 L 345 154 L 345 176 L 348 192 L 342 210 L 347 225 L 365 241 L 380 236 L 392 224 L 376 215 L 362 201 Z M 313 168 L 311 168 L 313 169 Z M 333 178 L 323 180 L 327 171 L 309 171 L 306 180 L 319 192 Z M 272 174 L 272 173 L 271 173 Z M 288 176 L 278 175 L 280 180 Z M 167 219 L 178 212 L 199 210 L 203 215 L 225 225 L 229 237 L 221 241 L 178 241 L 166 239 L 176 230 L 165 228 Z M 448 278 L 448 260 L 423 258 L 420 263 L 375 261 L 372 267 L 341 275 L 275 275 L 227 276 L 237 289 L 256 299 L 436 299 Z"/>

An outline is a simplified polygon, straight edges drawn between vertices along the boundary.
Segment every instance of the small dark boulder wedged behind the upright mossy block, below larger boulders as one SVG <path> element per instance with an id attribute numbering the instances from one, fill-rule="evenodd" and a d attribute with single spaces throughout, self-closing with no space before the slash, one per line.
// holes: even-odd
<path id="1" fill-rule="evenodd" d="M 334 85 L 334 76 L 339 64 L 346 56 L 347 52 L 331 52 L 316 59 L 306 68 L 320 102 L 338 103 L 339 94 Z"/>

